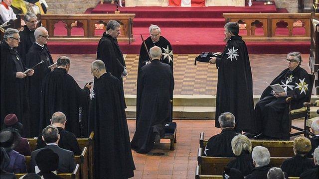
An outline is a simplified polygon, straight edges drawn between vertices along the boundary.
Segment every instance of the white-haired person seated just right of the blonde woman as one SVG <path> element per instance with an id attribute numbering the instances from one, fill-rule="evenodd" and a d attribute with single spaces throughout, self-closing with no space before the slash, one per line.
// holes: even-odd
<path id="1" fill-rule="evenodd" d="M 251 156 L 256 168 L 253 169 L 252 173 L 246 176 L 245 179 L 267 179 L 267 173 L 271 168 L 269 165 L 270 153 L 268 149 L 262 146 L 256 146 Z"/>

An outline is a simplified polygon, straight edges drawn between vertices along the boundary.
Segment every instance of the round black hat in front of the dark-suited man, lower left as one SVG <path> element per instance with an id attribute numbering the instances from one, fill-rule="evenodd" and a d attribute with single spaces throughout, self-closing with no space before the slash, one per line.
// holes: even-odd
<path id="1" fill-rule="evenodd" d="M 59 166 L 59 156 L 51 149 L 43 149 L 35 156 L 35 163 L 42 173 L 56 171 Z"/>

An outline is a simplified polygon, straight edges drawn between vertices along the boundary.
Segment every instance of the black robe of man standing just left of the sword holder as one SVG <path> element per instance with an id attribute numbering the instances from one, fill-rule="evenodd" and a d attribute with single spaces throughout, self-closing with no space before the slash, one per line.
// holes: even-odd
<path id="1" fill-rule="evenodd" d="M 104 32 L 98 44 L 96 59 L 102 60 L 106 71 L 121 81 L 121 91 L 124 96 L 122 73 L 126 65 L 117 39 Z"/>

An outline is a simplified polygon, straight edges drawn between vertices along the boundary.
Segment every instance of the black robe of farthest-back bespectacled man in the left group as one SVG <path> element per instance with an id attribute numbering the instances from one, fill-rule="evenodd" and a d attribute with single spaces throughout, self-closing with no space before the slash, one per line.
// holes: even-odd
<path id="1" fill-rule="evenodd" d="M 16 48 L 18 53 L 23 59 L 23 62 L 26 60 L 26 54 L 28 53 L 30 47 L 35 42 L 34 30 L 30 30 L 27 25 L 24 25 L 23 30 L 19 32 L 20 43 Z"/>

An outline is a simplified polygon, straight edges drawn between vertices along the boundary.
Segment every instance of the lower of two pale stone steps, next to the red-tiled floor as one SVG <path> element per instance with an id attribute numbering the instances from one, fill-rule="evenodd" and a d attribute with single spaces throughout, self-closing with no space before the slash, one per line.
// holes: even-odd
<path id="1" fill-rule="evenodd" d="M 311 107 L 310 116 L 316 117 L 319 107 Z M 173 118 L 175 119 L 214 119 L 215 106 L 174 106 Z M 127 118 L 136 118 L 136 106 L 126 108 Z"/>

